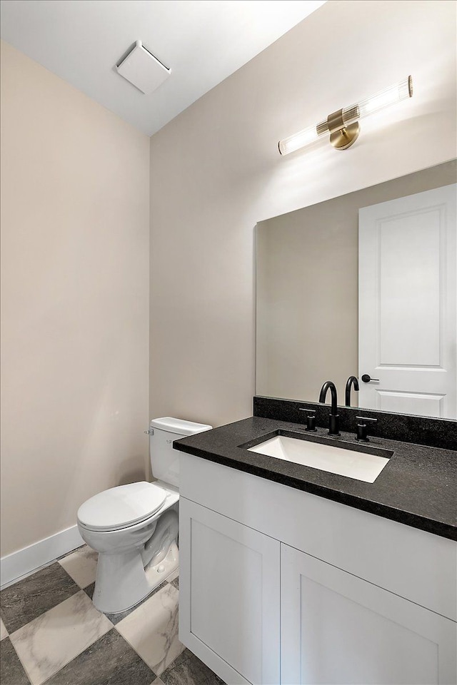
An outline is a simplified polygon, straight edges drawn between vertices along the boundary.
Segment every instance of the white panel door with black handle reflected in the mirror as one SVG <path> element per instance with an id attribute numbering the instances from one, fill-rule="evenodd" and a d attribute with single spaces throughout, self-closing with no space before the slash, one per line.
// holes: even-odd
<path id="1" fill-rule="evenodd" d="M 457 416 L 456 187 L 359 210 L 360 407 Z"/>

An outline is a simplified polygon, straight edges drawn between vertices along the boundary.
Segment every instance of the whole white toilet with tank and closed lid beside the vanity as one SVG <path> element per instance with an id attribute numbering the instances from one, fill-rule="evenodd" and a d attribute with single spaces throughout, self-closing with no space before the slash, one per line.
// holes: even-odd
<path id="1" fill-rule="evenodd" d="M 149 455 L 156 481 L 111 487 L 78 509 L 78 528 L 99 552 L 93 601 L 106 614 L 147 597 L 179 563 L 179 452 L 173 441 L 211 426 L 162 417 L 151 420 Z"/>

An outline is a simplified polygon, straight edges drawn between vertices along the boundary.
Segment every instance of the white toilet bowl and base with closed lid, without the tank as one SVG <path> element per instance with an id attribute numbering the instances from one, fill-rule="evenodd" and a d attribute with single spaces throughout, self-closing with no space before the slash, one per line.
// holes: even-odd
<path id="1" fill-rule="evenodd" d="M 126 497 L 131 500 L 129 509 L 122 511 Z M 135 509 L 137 499 L 138 509 Z M 156 507 L 159 501 L 161 504 Z M 160 569 L 148 569 L 147 577 L 145 572 L 148 564 L 157 566 L 164 561 L 173 542 L 176 547 L 178 501 L 176 489 L 141 482 L 113 487 L 80 507 L 78 526 L 81 537 L 89 547 L 99 552 L 92 598 L 99 611 L 111 614 L 133 607 L 176 569 L 177 549 L 172 550 Z M 142 514 L 148 508 L 151 512 L 144 517 Z M 110 514 L 111 523 L 108 523 Z M 133 522 L 128 522 L 129 517 Z M 140 520 L 135 521 L 135 517 Z"/>

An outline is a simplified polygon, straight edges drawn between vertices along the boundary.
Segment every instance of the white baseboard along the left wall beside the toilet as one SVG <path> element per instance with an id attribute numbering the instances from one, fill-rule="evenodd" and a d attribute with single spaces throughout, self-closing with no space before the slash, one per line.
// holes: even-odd
<path id="1" fill-rule="evenodd" d="M 46 537 L 44 540 L 29 544 L 29 547 L 18 549 L 13 554 L 7 554 L 0 559 L 1 587 L 11 585 L 41 566 L 49 564 L 62 554 L 80 547 L 84 540 L 79 534 L 78 526 L 71 526 L 66 530 Z"/>

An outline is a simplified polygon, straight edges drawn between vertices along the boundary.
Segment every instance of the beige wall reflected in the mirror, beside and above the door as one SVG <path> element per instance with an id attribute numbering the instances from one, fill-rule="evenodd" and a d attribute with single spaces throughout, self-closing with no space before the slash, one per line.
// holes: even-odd
<path id="1" fill-rule="evenodd" d="M 258 395 L 317 402 L 330 379 L 343 405 L 358 375 L 358 209 L 455 182 L 451 161 L 258 223 Z"/>

